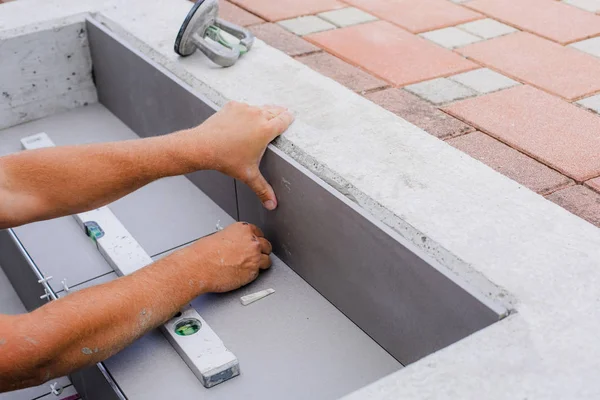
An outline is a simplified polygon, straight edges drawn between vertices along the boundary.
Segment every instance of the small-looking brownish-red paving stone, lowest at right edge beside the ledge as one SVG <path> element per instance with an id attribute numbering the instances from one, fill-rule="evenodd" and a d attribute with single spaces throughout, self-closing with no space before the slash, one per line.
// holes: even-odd
<path id="1" fill-rule="evenodd" d="M 577 185 L 554 192 L 547 199 L 600 227 L 599 193 Z"/>

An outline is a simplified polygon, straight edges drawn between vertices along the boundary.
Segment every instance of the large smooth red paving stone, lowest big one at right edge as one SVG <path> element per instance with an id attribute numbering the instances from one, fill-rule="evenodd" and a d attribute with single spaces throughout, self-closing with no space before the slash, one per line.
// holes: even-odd
<path id="1" fill-rule="evenodd" d="M 600 175 L 600 116 L 541 90 L 517 86 L 445 110 L 578 182 Z"/>

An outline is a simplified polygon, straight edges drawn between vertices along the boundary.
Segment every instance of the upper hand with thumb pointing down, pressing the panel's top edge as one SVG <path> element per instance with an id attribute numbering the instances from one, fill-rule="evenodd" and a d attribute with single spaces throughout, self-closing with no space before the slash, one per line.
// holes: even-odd
<path id="1" fill-rule="evenodd" d="M 246 183 L 264 207 L 273 210 L 277 198 L 258 166 L 267 145 L 293 120 L 292 113 L 283 107 L 254 107 L 232 101 L 190 133 L 203 137 L 212 169 Z"/>

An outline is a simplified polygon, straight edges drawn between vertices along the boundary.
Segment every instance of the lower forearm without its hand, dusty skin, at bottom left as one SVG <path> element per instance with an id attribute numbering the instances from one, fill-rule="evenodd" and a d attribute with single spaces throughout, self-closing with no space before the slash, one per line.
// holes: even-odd
<path id="1" fill-rule="evenodd" d="M 203 282 L 209 277 L 189 261 L 195 257 L 186 251 L 194 250 L 184 249 L 129 276 L 10 317 L 13 323 L 0 326 L 0 371 L 12 374 L 0 374 L 0 392 L 93 365 L 166 322 L 206 291 Z"/>

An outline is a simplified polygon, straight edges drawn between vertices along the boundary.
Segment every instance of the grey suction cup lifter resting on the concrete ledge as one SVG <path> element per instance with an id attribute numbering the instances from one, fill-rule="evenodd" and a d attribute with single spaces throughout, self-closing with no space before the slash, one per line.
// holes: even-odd
<path id="1" fill-rule="evenodd" d="M 198 0 L 179 29 L 175 52 L 189 56 L 196 49 L 222 67 L 230 67 L 250 51 L 254 35 L 219 17 L 218 0 Z"/>

